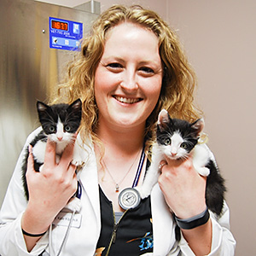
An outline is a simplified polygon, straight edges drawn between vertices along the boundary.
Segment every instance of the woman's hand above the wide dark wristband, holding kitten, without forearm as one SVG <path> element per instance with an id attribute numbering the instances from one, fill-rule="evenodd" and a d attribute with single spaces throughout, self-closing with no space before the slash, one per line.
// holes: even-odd
<path id="1" fill-rule="evenodd" d="M 206 177 L 195 171 L 192 157 L 161 163 L 159 185 L 177 218 L 190 218 L 206 209 Z"/>

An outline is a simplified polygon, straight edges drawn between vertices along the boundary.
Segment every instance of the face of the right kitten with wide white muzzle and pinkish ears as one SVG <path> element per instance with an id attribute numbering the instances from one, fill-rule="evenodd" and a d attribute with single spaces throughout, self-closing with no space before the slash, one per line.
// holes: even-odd
<path id="1" fill-rule="evenodd" d="M 202 119 L 190 124 L 185 120 L 171 119 L 166 110 L 162 110 L 157 125 L 157 143 L 160 150 L 172 160 L 187 158 L 195 147 L 203 126 Z"/>

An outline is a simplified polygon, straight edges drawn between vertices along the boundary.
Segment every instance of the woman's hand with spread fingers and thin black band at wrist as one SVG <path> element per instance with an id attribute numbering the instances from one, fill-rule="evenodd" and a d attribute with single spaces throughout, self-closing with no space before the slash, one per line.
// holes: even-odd
<path id="1" fill-rule="evenodd" d="M 23 214 L 21 227 L 28 233 L 41 234 L 48 230 L 58 212 L 77 189 L 76 166 L 71 165 L 73 145 L 65 148 L 61 160 L 55 163 L 55 143 L 47 142 L 44 166 L 36 172 L 33 166 L 32 148 L 28 157 L 26 182 L 29 201 Z M 27 249 L 31 250 L 38 238 L 26 236 Z"/>

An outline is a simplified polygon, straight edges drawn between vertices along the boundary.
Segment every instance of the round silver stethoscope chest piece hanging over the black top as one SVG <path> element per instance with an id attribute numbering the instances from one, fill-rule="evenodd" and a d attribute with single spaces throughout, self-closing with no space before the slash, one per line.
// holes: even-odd
<path id="1" fill-rule="evenodd" d="M 119 194 L 119 206 L 124 210 L 133 209 L 141 202 L 141 196 L 136 189 L 127 188 Z"/>

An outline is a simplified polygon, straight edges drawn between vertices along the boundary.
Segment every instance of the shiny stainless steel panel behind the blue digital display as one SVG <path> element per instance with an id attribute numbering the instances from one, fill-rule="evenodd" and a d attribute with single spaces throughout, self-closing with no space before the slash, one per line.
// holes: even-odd
<path id="1" fill-rule="evenodd" d="M 0 205 L 20 150 L 38 127 L 37 100 L 53 96 L 75 52 L 49 49 L 49 16 L 88 32 L 95 14 L 32 0 L 0 1 Z"/>

